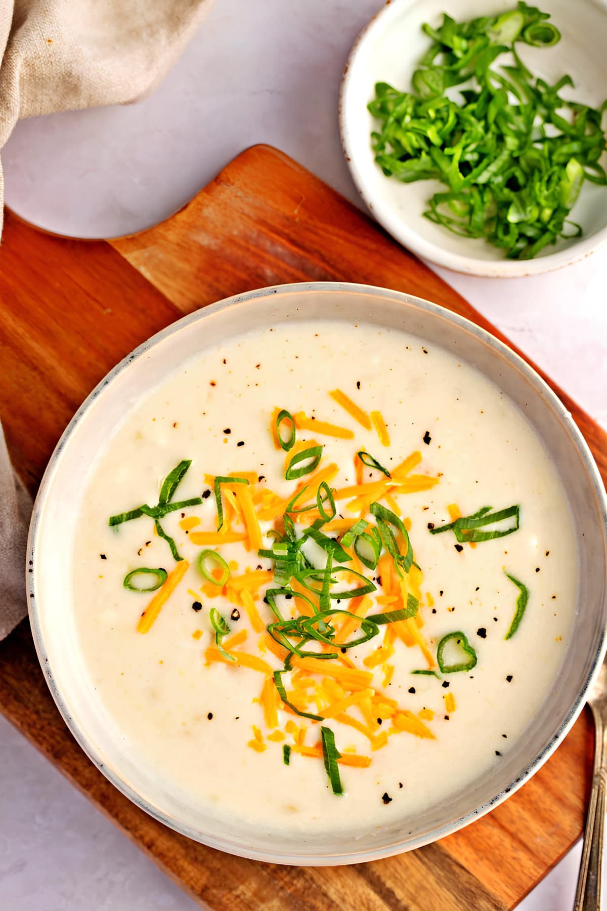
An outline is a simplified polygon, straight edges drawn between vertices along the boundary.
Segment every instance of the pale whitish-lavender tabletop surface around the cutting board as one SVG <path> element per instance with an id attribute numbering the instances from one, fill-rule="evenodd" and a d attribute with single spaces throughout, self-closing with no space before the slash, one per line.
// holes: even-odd
<path id="1" fill-rule="evenodd" d="M 144 102 L 22 122 L 2 154 L 6 203 L 50 230 L 116 236 L 167 217 L 256 142 L 356 200 L 339 77 L 377 6 L 217 0 Z M 607 254 L 528 279 L 441 274 L 607 427 Z M 579 856 L 578 845 L 522 911 L 570 911 Z M 195 907 L 2 719 L 0 896 L 10 911 Z"/>

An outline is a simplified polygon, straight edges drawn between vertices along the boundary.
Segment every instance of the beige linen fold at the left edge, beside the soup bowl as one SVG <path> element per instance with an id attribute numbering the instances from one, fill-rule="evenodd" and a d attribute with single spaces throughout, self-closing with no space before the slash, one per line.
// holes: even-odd
<path id="1" fill-rule="evenodd" d="M 0 640 L 27 611 L 25 546 L 32 500 L 15 475 L 0 425 Z"/>

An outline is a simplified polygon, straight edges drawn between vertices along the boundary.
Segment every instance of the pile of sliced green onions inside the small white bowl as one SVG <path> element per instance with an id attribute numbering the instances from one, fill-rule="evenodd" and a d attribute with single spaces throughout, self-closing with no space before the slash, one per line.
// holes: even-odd
<path id="1" fill-rule="evenodd" d="M 582 179 L 607 184 L 593 168 L 605 149 L 602 108 L 562 98 L 571 77 L 548 85 L 517 54 L 519 42 L 550 48 L 560 40 L 549 18 L 524 2 L 459 23 L 443 15 L 442 25 L 422 26 L 430 46 L 411 75 L 413 90 L 379 82 L 368 106 L 379 121 L 371 141 L 383 173 L 404 183 L 440 180 L 445 191 L 433 193 L 424 216 L 511 259 L 531 259 L 567 237 L 577 193 L 568 198 L 563 166 L 572 157 Z M 514 64 L 493 67 L 507 53 Z M 563 107 L 572 118 L 561 117 Z"/>

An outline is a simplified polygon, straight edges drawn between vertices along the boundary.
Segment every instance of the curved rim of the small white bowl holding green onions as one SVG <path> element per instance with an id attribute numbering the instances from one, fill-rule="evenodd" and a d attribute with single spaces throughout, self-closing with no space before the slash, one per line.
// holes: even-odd
<path id="1" fill-rule="evenodd" d="M 595 231 L 590 236 L 583 237 L 581 241 L 572 243 L 571 246 L 566 247 L 564 250 L 554 251 L 534 260 L 479 260 L 474 256 L 467 256 L 464 253 L 455 253 L 445 250 L 432 241 L 427 241 L 425 238 L 421 237 L 416 230 L 411 229 L 405 222 L 400 220 L 389 202 L 385 202 L 378 195 L 369 190 L 368 182 L 359 169 L 356 152 L 350 141 L 347 111 L 349 107 L 352 72 L 354 67 L 358 64 L 359 56 L 361 56 L 361 52 L 365 50 L 368 40 L 374 36 L 376 31 L 379 32 L 383 27 L 384 19 L 389 16 L 396 17 L 400 8 L 407 8 L 415 2 L 417 2 L 417 0 L 387 0 L 387 2 L 379 8 L 378 12 L 369 19 L 367 25 L 359 32 L 354 44 L 350 48 L 348 59 L 346 60 L 341 75 L 338 101 L 338 125 L 341 150 L 346 159 L 350 177 L 352 178 L 356 189 L 359 191 L 361 200 L 363 200 L 371 215 L 379 221 L 379 224 L 385 228 L 396 241 L 417 256 L 429 260 L 438 266 L 444 266 L 452 271 L 468 275 L 479 275 L 485 278 L 524 278 L 528 275 L 539 275 L 544 272 L 555 271 L 564 266 L 572 265 L 574 262 L 579 262 L 601 249 L 605 243 L 607 243 L 607 224 L 603 225 L 602 228 Z"/>

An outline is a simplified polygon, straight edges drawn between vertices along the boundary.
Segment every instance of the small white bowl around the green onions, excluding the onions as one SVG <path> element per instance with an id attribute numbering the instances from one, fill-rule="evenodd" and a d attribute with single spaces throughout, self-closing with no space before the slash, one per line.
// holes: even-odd
<path id="1" fill-rule="evenodd" d="M 458 21 L 499 14 L 515 0 L 388 0 L 363 29 L 350 51 L 339 97 L 339 131 L 352 178 L 375 218 L 411 251 L 440 266 L 471 275 L 517 277 L 559 269 L 581 260 L 607 241 L 607 188 L 584 181 L 572 210 L 582 225 L 579 239 L 559 240 L 534 260 L 506 260 L 503 251 L 482 240 L 462 238 L 423 217 L 430 196 L 444 190 L 438 180 L 401 183 L 384 176 L 375 163 L 370 133 L 378 121 L 367 105 L 376 82 L 410 90 L 410 77 L 430 39 L 421 31 L 438 25 L 450 12 Z M 607 2 L 605 0 L 541 0 L 541 9 L 561 31 L 557 46 L 521 46 L 521 57 L 534 75 L 554 82 L 568 73 L 575 88 L 563 97 L 600 107 L 607 96 Z M 498 62 L 499 64 L 499 62 Z M 603 155 L 602 163 L 607 156 Z"/>

